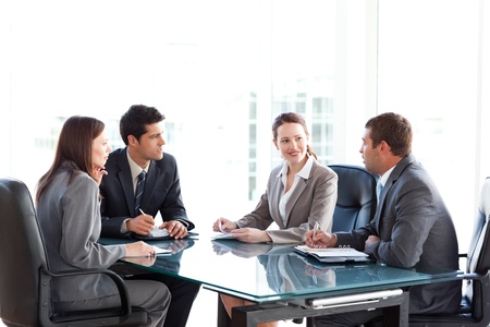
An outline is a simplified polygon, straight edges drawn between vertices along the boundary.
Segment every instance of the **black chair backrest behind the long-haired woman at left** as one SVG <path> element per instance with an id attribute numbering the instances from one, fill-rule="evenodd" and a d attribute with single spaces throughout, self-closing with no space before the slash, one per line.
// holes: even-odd
<path id="1" fill-rule="evenodd" d="M 0 317 L 38 325 L 39 269 L 47 268 L 46 251 L 30 193 L 10 178 L 0 179 Z"/>

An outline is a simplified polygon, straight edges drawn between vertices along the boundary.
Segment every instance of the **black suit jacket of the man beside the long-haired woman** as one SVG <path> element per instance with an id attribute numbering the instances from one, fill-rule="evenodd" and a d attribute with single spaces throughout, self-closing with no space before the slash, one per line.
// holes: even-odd
<path id="1" fill-rule="evenodd" d="M 139 215 L 134 213 L 134 189 L 126 148 L 117 149 L 109 155 L 106 170 L 108 174 L 100 183 L 101 235 L 122 237 L 123 221 Z M 160 211 L 163 221 L 183 220 L 188 223 L 187 230 L 194 229 L 182 201 L 177 166 L 172 155 L 166 153 L 161 160 L 151 160 L 140 208 L 154 217 Z"/>

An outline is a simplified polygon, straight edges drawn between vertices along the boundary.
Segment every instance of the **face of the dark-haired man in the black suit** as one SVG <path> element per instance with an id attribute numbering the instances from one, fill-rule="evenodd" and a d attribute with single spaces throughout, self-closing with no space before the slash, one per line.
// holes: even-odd
<path id="1" fill-rule="evenodd" d="M 163 158 L 163 129 L 160 123 L 146 125 L 146 133 L 136 141 L 135 153 L 142 160 L 160 160 Z"/>

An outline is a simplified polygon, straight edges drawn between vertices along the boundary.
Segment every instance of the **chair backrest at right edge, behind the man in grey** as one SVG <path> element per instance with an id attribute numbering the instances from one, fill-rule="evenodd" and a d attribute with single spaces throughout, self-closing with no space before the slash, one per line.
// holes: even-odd
<path id="1" fill-rule="evenodd" d="M 483 182 L 480 193 L 480 201 L 475 218 L 475 227 L 469 245 L 466 271 L 486 275 L 490 269 L 490 178 Z M 483 310 L 488 304 L 481 303 L 482 292 L 481 282 L 468 280 L 466 284 L 466 299 L 473 303 L 473 316 L 481 317 Z M 488 288 L 487 292 L 488 292 Z M 488 294 L 490 295 L 490 294 Z"/>

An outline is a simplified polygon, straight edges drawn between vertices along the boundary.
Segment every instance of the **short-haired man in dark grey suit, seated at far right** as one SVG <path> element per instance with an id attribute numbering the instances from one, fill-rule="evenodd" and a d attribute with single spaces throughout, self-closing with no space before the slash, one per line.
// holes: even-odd
<path id="1" fill-rule="evenodd" d="M 373 220 L 350 232 L 311 232 L 314 247 L 350 245 L 378 263 L 424 271 L 457 269 L 457 238 L 451 215 L 425 168 L 412 155 L 412 126 L 387 112 L 368 120 L 360 148 L 366 169 L 379 174 L 382 191 Z M 411 287 L 409 313 L 454 313 L 461 281 Z M 315 326 L 358 326 L 379 318 L 380 310 L 322 316 Z"/>

